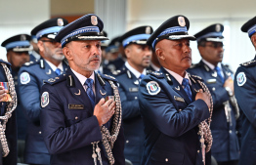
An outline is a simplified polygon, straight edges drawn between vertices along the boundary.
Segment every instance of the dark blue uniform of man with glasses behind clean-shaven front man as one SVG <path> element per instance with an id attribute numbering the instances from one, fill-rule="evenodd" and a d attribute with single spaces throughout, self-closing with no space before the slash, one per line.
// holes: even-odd
<path id="1" fill-rule="evenodd" d="M 230 76 L 233 77 L 233 72 L 227 66 L 222 64 L 224 79 L 227 80 Z M 236 122 L 235 122 L 235 107 L 230 103 L 231 122 L 227 122 L 224 104 L 230 101 L 230 96 L 223 87 L 222 80 L 217 76 L 217 72 L 212 70 L 204 62 L 199 62 L 188 69 L 194 75 L 200 76 L 212 95 L 213 113 L 211 131 L 213 137 L 212 155 L 217 161 L 231 161 L 238 160 L 239 146 L 236 136 Z"/>

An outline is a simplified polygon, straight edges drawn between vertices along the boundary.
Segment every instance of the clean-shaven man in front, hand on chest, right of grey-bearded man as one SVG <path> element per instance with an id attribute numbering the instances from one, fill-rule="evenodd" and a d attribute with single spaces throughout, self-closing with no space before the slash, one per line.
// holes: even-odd
<path id="1" fill-rule="evenodd" d="M 201 78 L 186 72 L 192 64 L 190 40 L 195 40 L 189 28 L 190 21 L 178 15 L 149 37 L 162 67 L 140 84 L 146 134 L 143 165 L 210 164 L 211 97 Z"/>

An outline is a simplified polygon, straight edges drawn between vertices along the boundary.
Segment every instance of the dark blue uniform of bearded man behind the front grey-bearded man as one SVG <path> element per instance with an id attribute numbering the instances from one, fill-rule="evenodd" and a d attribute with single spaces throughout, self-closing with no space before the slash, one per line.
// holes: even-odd
<path id="1" fill-rule="evenodd" d="M 63 62 L 64 70 L 67 67 Z M 44 60 L 25 63 L 19 71 L 21 104 L 28 118 L 24 162 L 50 164 L 50 154 L 43 141 L 40 126 L 40 92 L 45 81 L 57 74 Z"/>

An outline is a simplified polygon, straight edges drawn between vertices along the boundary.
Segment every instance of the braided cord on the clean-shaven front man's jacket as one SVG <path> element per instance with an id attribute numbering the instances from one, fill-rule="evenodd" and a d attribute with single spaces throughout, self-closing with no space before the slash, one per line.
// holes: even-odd
<path id="1" fill-rule="evenodd" d="M 199 127 L 198 135 L 201 136 L 200 143 L 207 143 L 206 148 L 205 148 L 205 144 L 203 145 L 203 147 L 205 148 L 206 152 L 208 152 L 208 151 L 210 151 L 211 146 L 212 146 L 212 134 L 211 134 L 211 130 L 210 130 L 210 125 L 211 125 L 211 118 L 212 118 L 212 111 L 213 111 L 213 102 L 212 102 L 211 93 L 208 90 L 207 86 L 199 80 L 197 80 L 197 82 L 200 84 L 202 89 L 210 97 L 210 103 L 211 103 L 210 117 L 208 118 L 208 123 L 206 122 L 206 120 L 204 120 L 198 125 L 198 127 Z"/>

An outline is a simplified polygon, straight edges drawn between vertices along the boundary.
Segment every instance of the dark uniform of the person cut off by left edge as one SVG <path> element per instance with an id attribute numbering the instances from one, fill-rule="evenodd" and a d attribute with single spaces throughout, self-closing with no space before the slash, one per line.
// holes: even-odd
<path id="1" fill-rule="evenodd" d="M 1 63 L 7 64 L 11 69 L 11 64 L 0 60 L 0 82 L 8 82 L 5 70 Z M 0 103 L 1 116 L 5 115 L 7 103 Z M 17 165 L 17 124 L 16 124 L 16 111 L 12 113 L 12 117 L 8 119 L 6 124 L 5 136 L 10 149 L 9 154 L 3 157 L 2 151 L 0 152 L 0 165 Z"/>

